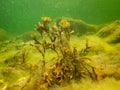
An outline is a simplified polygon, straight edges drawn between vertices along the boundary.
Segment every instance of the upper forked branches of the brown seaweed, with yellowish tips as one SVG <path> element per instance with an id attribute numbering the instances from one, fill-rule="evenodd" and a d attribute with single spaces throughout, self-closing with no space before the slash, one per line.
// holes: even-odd
<path id="1" fill-rule="evenodd" d="M 44 17 L 42 21 L 42 24 L 38 23 L 36 27 L 42 40 L 38 41 L 36 35 L 34 35 L 33 39 L 35 44 L 33 46 L 35 46 L 42 54 L 43 59 L 45 59 L 47 49 L 53 50 L 58 56 L 60 56 L 60 54 L 64 56 L 67 52 L 71 52 L 69 41 L 70 35 L 73 31 L 69 30 L 70 24 L 66 20 L 62 20 L 59 23 L 59 27 L 57 27 L 56 23 L 54 23 L 53 27 L 49 28 L 48 23 L 51 19 Z M 39 48 L 41 46 L 42 48 Z"/>

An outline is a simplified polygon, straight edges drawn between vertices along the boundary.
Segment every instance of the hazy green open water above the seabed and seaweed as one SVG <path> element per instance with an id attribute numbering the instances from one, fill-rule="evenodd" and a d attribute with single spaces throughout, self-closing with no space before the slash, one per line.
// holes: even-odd
<path id="1" fill-rule="evenodd" d="M 120 0 L 0 0 L 0 28 L 32 30 L 42 16 L 72 17 L 102 24 L 120 19 Z"/>

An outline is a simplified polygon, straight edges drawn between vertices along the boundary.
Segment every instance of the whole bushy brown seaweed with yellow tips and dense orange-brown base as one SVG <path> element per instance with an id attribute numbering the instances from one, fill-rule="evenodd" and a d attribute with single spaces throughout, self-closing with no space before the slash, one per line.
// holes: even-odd
<path id="1" fill-rule="evenodd" d="M 74 32 L 70 29 L 70 23 L 66 19 L 62 19 L 58 25 L 54 23 L 50 27 L 50 21 L 51 18 L 43 17 L 42 23 L 36 25 L 36 30 L 41 39 L 38 39 L 34 34 L 34 43 L 31 45 L 40 52 L 43 59 L 40 60 L 41 64 L 38 64 L 33 70 L 33 74 L 22 87 L 22 90 L 31 88 L 43 90 L 54 86 L 64 86 L 72 80 L 79 81 L 81 78 L 90 77 L 94 79 L 95 77 L 92 66 L 86 63 L 87 60 L 90 61 L 90 58 L 84 54 L 89 47 L 88 43 L 81 53 L 77 47 L 72 47 L 70 44 L 71 34 Z M 52 65 L 46 62 L 48 49 L 57 54 Z"/>

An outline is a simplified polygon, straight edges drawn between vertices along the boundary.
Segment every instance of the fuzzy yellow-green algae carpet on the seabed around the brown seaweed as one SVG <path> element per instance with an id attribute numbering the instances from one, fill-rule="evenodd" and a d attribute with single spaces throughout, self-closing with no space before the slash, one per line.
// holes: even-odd
<path id="1" fill-rule="evenodd" d="M 98 72 L 96 75 L 98 75 L 98 76 L 101 75 L 100 77 L 102 78 L 102 80 L 98 81 L 98 82 L 101 82 L 99 84 L 98 84 L 98 82 L 96 83 L 96 81 L 94 82 L 94 80 L 91 81 L 89 78 L 87 81 L 88 82 L 90 81 L 89 82 L 90 87 L 88 87 L 88 88 L 86 87 L 88 84 L 85 82 L 79 82 L 79 83 L 74 82 L 73 85 L 75 85 L 77 88 L 71 87 L 72 89 L 79 90 L 79 88 L 83 88 L 83 90 L 86 90 L 86 89 L 100 90 L 101 87 L 103 86 L 102 81 L 104 81 L 104 80 L 105 80 L 104 85 L 106 85 L 105 90 L 107 90 L 107 83 L 109 83 L 109 80 L 111 83 L 113 82 L 113 83 L 116 83 L 116 85 L 119 85 L 119 79 L 120 79 L 120 77 L 119 77 L 119 75 L 120 75 L 120 73 L 119 73 L 119 71 L 120 71 L 120 69 L 119 69 L 119 67 L 120 67 L 120 65 L 119 65 L 119 60 L 120 60 L 119 41 L 117 43 L 110 44 L 110 43 L 108 43 L 109 40 L 107 39 L 109 37 L 117 35 L 116 33 L 117 33 L 117 30 L 119 30 L 119 25 L 117 26 L 117 22 L 116 22 L 116 24 L 110 24 L 110 26 L 112 26 L 112 27 L 114 26 L 114 28 L 115 28 L 114 32 L 112 32 L 112 33 L 109 33 L 110 30 L 108 30 L 108 27 L 106 27 L 106 28 L 103 27 L 104 30 L 101 29 L 100 31 L 97 32 L 97 34 L 91 33 L 90 35 L 86 34 L 83 36 L 76 36 L 76 33 L 74 33 L 74 35 L 71 35 L 71 39 L 70 39 L 71 42 L 69 43 L 69 45 L 71 47 L 76 47 L 77 51 L 79 53 L 81 53 L 82 50 L 84 51 L 84 49 L 86 48 L 86 44 L 87 44 L 88 49 L 87 49 L 87 51 L 85 50 L 86 53 L 84 55 L 86 57 L 90 58 L 91 60 L 85 60 L 85 63 L 89 64 L 92 67 L 100 68 L 101 71 Z M 66 25 L 62 28 L 66 28 Z M 104 31 L 104 33 L 103 33 L 103 31 Z M 103 36 L 102 36 L 102 33 L 103 33 Z M 104 35 L 104 34 L 106 34 L 106 35 Z M 36 34 L 36 35 L 38 35 L 38 34 Z M 35 86 L 38 86 L 35 84 L 36 82 L 39 84 L 39 81 L 43 80 L 43 78 L 41 76 L 43 74 L 43 72 L 42 72 L 43 70 L 41 68 L 42 62 L 40 61 L 42 59 L 42 55 L 39 53 L 39 51 L 37 51 L 33 47 L 33 43 L 34 43 L 35 39 L 31 40 L 31 37 L 26 38 L 26 36 L 25 37 L 20 36 L 19 38 L 16 37 L 11 40 L 0 43 L 0 47 L 1 47 L 0 48 L 0 55 L 1 55 L 1 57 L 0 57 L 0 64 L 1 64 L 0 79 L 2 80 L 1 88 L 6 88 L 7 90 L 17 90 L 17 89 L 21 90 L 21 88 L 27 86 L 24 89 L 30 90 L 30 89 L 34 88 Z M 38 38 L 39 37 L 37 37 L 37 39 Z M 16 41 L 14 41 L 14 40 L 16 40 Z M 41 41 L 42 39 L 40 38 L 38 40 Z M 49 38 L 46 38 L 46 40 L 49 40 Z M 69 40 L 69 38 L 68 38 L 68 40 Z M 110 40 L 113 40 L 113 39 L 110 39 Z M 50 42 L 50 40 L 49 40 L 49 42 Z M 73 51 L 74 49 L 71 49 L 71 50 Z M 27 53 L 25 54 L 24 52 L 26 52 L 26 51 L 27 51 Z M 59 55 L 62 55 L 62 52 L 59 51 Z M 23 62 L 23 59 L 24 59 L 23 57 L 25 58 L 24 62 Z M 57 60 L 56 57 L 58 57 L 58 56 L 54 51 L 46 50 L 46 58 L 45 58 L 45 61 L 47 63 L 46 68 L 49 67 L 49 65 L 50 66 L 54 65 L 54 62 L 56 62 L 56 60 Z M 71 56 L 69 56 L 69 57 L 71 57 Z M 65 58 L 65 59 L 66 60 L 68 59 L 68 61 L 69 61 L 69 59 L 71 59 L 71 58 Z M 67 65 L 66 64 L 67 62 L 64 62 L 64 65 Z M 61 65 L 63 65 L 63 64 L 61 64 Z M 72 65 L 69 64 L 69 66 L 72 66 Z M 78 64 L 78 67 L 79 67 L 79 64 Z M 88 68 L 88 70 L 91 71 L 89 66 L 87 66 L 87 68 Z M 47 70 L 49 71 L 49 69 L 47 69 Z M 105 77 L 110 77 L 110 78 L 106 79 Z M 113 78 L 115 78 L 115 79 L 113 79 Z M 19 84 L 20 82 L 21 82 L 21 85 Z M 93 82 L 95 85 L 97 85 L 97 87 L 95 87 L 95 88 L 92 87 Z M 66 88 L 69 87 L 68 84 L 65 84 L 65 85 L 66 86 L 64 86 L 64 87 L 66 87 Z M 72 81 L 71 81 L 71 85 L 72 85 Z M 80 85 L 80 87 L 78 87 L 79 85 Z M 82 85 L 83 85 L 83 87 L 82 87 Z M 64 87 L 60 86 L 57 89 L 61 90 L 61 88 L 62 88 L 62 90 L 63 90 Z M 38 87 L 38 90 L 40 88 L 47 89 L 47 84 L 46 83 L 41 84 Z M 113 88 L 113 87 L 111 87 L 111 88 Z M 55 90 L 55 89 L 56 89 L 56 87 L 53 88 L 53 90 Z M 118 87 L 117 87 L 117 89 L 119 90 Z"/>

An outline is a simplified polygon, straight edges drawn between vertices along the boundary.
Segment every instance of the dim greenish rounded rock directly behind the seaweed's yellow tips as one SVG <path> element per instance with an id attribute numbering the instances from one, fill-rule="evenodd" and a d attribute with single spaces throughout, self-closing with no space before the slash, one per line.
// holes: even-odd
<path id="1" fill-rule="evenodd" d="M 78 36 L 84 34 L 93 34 L 97 31 L 97 26 L 88 24 L 82 20 L 72 18 L 59 18 L 56 21 L 59 22 L 61 19 L 66 19 L 70 23 L 70 29 L 75 31 Z"/>

